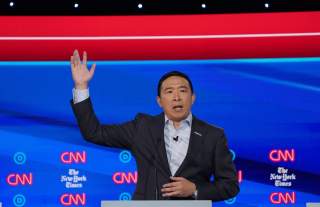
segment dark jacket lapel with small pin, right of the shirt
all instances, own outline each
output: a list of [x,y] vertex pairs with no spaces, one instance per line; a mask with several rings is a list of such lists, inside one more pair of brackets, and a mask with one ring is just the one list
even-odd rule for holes
[[174,176],[181,176],[184,168],[188,166],[188,161],[192,154],[201,151],[204,135],[203,128],[200,126],[199,121],[193,116],[187,154]]

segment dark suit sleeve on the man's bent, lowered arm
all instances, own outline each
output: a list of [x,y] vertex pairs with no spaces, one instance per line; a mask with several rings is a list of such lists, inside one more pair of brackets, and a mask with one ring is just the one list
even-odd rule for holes
[[224,133],[217,140],[213,163],[214,181],[197,185],[197,199],[221,201],[235,197],[240,189]]

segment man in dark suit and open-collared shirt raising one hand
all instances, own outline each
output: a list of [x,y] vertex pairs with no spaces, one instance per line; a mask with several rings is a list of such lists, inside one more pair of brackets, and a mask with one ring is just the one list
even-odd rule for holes
[[[88,91],[95,64],[87,68],[78,51],[71,56],[75,88],[71,102],[84,138],[96,144],[131,150],[138,183],[133,199],[225,200],[239,192],[236,170],[223,129],[191,113],[192,82],[184,73],[165,74],[158,83],[157,102],[163,113],[138,114],[119,125],[99,123]],[[210,181],[211,176],[214,181]]]

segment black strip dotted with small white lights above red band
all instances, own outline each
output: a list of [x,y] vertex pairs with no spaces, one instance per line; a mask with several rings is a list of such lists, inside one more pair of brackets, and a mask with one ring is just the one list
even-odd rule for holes
[[[10,6],[14,2],[14,6]],[[78,8],[74,5],[78,4]],[[138,8],[138,4],[142,8]],[[202,8],[202,4],[206,7]],[[265,4],[269,6],[266,7]],[[2,0],[0,15],[141,15],[317,11],[319,0]]]

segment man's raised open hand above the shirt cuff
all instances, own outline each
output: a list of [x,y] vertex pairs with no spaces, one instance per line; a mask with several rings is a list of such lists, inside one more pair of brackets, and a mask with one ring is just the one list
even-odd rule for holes
[[76,89],[87,89],[89,81],[92,79],[96,64],[93,64],[88,70],[87,67],[87,53],[83,52],[83,60],[81,62],[78,50],[73,52],[70,57],[72,79]]

